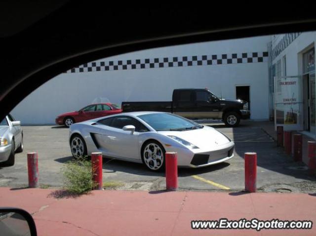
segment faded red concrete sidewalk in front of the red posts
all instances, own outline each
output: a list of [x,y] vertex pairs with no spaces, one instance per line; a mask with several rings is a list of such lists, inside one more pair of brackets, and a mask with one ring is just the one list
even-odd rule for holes
[[192,230],[191,220],[312,220],[316,195],[93,191],[56,198],[53,190],[0,188],[0,206],[33,213],[39,236],[316,235],[312,230]]

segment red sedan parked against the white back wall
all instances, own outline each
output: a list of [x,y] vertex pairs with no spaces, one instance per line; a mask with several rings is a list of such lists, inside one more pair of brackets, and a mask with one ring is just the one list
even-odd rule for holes
[[55,122],[56,124],[66,125],[69,127],[73,123],[110,116],[121,112],[122,110],[118,107],[118,105],[113,103],[91,104],[79,111],[61,114],[56,118]]

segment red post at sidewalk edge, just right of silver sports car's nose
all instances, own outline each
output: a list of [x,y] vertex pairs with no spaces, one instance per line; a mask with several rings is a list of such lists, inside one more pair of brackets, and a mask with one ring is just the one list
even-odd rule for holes
[[257,153],[245,153],[245,191],[257,190]]

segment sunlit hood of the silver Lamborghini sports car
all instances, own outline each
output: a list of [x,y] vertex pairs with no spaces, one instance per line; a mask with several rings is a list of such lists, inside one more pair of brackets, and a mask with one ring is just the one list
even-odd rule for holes
[[163,135],[174,135],[199,148],[206,149],[210,146],[216,147],[230,142],[223,134],[208,126],[187,131],[158,131],[158,133]]

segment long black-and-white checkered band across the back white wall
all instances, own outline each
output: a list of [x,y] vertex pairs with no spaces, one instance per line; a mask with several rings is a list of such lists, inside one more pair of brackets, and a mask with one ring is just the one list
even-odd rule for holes
[[244,52],[218,55],[162,57],[85,63],[66,73],[119,71],[166,67],[213,66],[238,63],[268,62],[268,52]]

